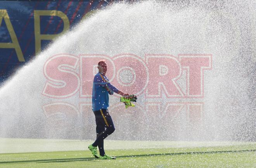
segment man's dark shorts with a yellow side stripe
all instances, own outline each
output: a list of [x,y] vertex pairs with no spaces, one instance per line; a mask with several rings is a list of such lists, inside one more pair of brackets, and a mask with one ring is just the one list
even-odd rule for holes
[[100,134],[100,132],[106,129],[114,129],[114,123],[107,109],[100,109],[98,111],[93,111],[93,113],[95,115],[97,134]]

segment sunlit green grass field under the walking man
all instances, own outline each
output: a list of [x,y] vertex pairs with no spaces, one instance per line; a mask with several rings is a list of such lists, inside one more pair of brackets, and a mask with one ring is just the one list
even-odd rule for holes
[[[116,156],[116,160],[93,158],[87,149],[91,141],[0,139],[0,142],[5,144],[0,147],[0,151],[5,151],[0,154],[1,168],[256,167],[255,142],[106,141],[106,153]],[[48,152],[14,153],[43,150],[36,146],[51,143],[52,149],[50,146],[44,149]],[[66,151],[70,146],[81,150]],[[60,151],[50,152],[57,149],[54,147],[60,147]]]

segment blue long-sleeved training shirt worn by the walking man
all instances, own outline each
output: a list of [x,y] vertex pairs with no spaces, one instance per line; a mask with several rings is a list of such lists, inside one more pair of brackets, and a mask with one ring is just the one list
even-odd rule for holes
[[109,94],[118,93],[118,89],[110,84],[109,79],[101,73],[94,76],[92,86],[92,111],[107,109]]

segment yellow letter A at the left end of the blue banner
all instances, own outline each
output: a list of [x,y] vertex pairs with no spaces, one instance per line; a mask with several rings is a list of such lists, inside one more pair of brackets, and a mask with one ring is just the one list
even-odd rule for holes
[[19,46],[19,42],[18,42],[17,36],[15,34],[15,31],[12,27],[12,23],[10,22],[10,17],[7,14],[7,10],[0,9],[0,27],[1,27],[3,19],[5,21],[7,29],[9,31],[10,38],[12,39],[12,43],[0,43],[0,48],[14,48],[16,51],[17,57],[19,59],[19,62],[24,62],[25,59],[23,57],[21,47]]

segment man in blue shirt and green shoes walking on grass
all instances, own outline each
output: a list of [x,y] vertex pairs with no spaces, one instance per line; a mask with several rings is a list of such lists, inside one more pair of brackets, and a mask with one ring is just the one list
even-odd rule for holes
[[[107,63],[105,60],[100,60],[98,63],[99,73],[93,79],[92,87],[92,111],[96,120],[97,139],[88,146],[95,158],[99,159],[116,159],[108,156],[104,151],[104,139],[112,134],[115,130],[109,111],[109,94],[115,93],[121,96],[129,96],[127,93],[119,91],[116,87],[110,84],[109,79],[105,76],[107,72]],[[100,154],[97,154],[97,146]]]

